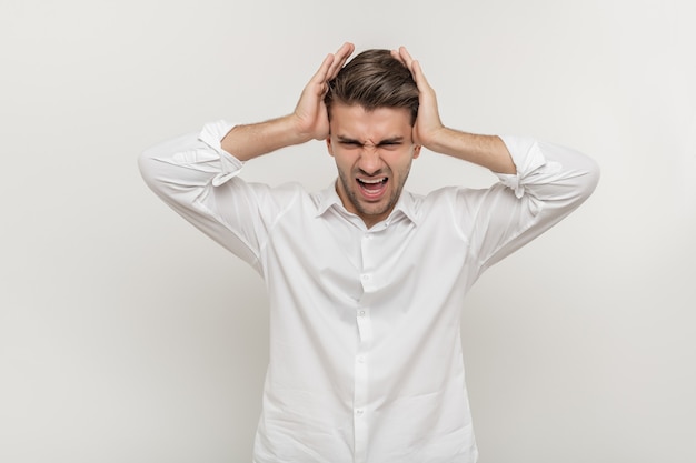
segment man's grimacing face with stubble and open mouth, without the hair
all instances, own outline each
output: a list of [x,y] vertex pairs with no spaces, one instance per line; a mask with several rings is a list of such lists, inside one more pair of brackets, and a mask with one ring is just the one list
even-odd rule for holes
[[336,191],[344,207],[370,228],[385,220],[401,194],[411,161],[420,154],[411,137],[408,109],[335,102],[329,153],[336,160]]

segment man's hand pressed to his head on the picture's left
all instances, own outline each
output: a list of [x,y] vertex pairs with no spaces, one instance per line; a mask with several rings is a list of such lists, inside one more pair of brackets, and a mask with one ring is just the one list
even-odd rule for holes
[[329,53],[302,90],[292,117],[298,133],[305,135],[307,140],[324,140],[329,135],[329,119],[324,97],[329,89],[328,82],[338,74],[354,50],[355,46],[346,42],[335,54]]

